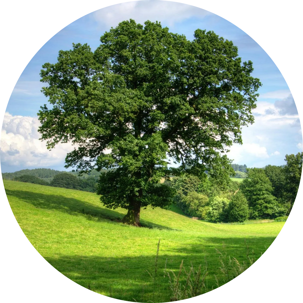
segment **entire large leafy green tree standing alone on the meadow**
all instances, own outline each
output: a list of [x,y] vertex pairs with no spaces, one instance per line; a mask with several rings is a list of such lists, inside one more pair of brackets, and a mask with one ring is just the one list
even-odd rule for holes
[[124,221],[134,225],[141,207],[171,203],[171,188],[159,184],[168,158],[199,177],[206,168],[216,179],[233,173],[222,154],[253,123],[261,85],[252,62],[214,32],[197,29],[189,41],[160,22],[144,24],[123,21],[95,52],[73,44],[45,63],[42,91],[52,108],[38,112],[48,148],[77,145],[65,167],[115,168],[101,174],[98,194],[107,207],[128,209]]

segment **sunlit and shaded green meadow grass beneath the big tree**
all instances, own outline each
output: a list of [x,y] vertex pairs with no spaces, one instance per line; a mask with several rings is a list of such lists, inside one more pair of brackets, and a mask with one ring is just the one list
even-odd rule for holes
[[[120,222],[126,210],[105,208],[94,193],[3,180],[22,231],[54,268],[72,281],[124,301],[170,301],[167,270],[176,274],[207,261],[208,290],[225,277],[218,252],[246,260],[246,240],[257,260],[285,222],[227,225],[192,220],[175,205],[170,210],[142,209],[136,228]],[[155,255],[159,239],[157,273]],[[153,280],[152,277],[155,279]]]

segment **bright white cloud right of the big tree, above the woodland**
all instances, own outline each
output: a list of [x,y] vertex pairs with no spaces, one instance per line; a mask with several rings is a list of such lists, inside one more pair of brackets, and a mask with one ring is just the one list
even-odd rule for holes
[[252,113],[255,122],[242,128],[243,145],[231,146],[228,158],[248,166],[259,159],[262,167],[269,157],[278,165],[283,155],[296,152],[295,146],[302,150],[303,144],[297,144],[302,138],[301,123],[292,95],[276,102],[258,101]]

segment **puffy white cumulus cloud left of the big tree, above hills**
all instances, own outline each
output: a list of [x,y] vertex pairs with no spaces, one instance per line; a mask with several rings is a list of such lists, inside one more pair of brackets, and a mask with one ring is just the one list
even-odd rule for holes
[[62,165],[66,154],[73,150],[71,143],[59,144],[49,151],[39,140],[37,117],[13,116],[5,113],[0,141],[0,160],[3,165],[48,167]]

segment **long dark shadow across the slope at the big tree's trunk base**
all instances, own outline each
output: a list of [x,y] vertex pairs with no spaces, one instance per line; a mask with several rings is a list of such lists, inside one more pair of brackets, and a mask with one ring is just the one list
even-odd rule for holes
[[[5,189],[5,193],[7,196],[13,196],[27,203],[30,203],[36,208],[58,210],[69,215],[84,215],[88,220],[92,220],[94,218],[94,220],[97,219],[98,221],[111,220],[121,222],[122,218],[125,216],[125,214],[118,211],[109,208],[98,207],[88,202],[75,198],[67,198],[62,195],[47,195],[31,191],[10,189]],[[145,220],[142,220],[142,223],[143,227],[172,230],[170,227],[158,225]]]

